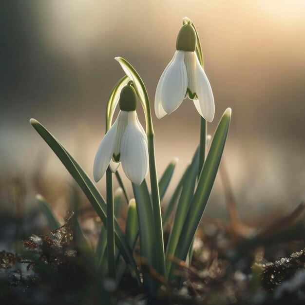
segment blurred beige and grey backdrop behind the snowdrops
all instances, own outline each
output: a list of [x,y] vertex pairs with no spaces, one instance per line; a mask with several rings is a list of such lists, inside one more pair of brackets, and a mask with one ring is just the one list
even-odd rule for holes
[[[29,119],[92,177],[106,101],[123,76],[114,57],[135,67],[153,109],[185,16],[199,32],[214,93],[210,134],[232,108],[223,165],[242,218],[264,220],[304,199],[304,0],[10,0],[0,1],[0,213],[16,210],[12,188],[21,210],[37,209],[39,192],[64,213],[73,181]],[[166,203],[198,145],[199,115],[185,100],[161,120],[152,116],[159,176],[179,158]],[[98,187],[105,194],[104,178]],[[227,214],[217,177],[205,215]]]

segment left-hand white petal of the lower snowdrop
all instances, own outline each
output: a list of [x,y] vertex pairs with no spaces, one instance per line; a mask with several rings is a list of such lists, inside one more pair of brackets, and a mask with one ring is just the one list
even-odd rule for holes
[[114,153],[117,120],[118,119],[115,120],[114,125],[111,126],[103,137],[95,154],[93,164],[93,177],[95,182],[98,182],[106,172]]

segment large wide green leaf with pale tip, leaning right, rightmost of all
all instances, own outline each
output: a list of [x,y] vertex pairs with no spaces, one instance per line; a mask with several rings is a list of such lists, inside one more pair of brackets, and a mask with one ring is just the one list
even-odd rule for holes
[[[185,261],[192,240],[206,208],[212,186],[218,171],[221,156],[226,144],[231,119],[231,109],[228,108],[221,117],[216,132],[212,138],[207,159],[199,176],[198,184],[191,201],[191,207],[184,222],[174,257]],[[176,266],[172,264],[169,278],[173,279]]]

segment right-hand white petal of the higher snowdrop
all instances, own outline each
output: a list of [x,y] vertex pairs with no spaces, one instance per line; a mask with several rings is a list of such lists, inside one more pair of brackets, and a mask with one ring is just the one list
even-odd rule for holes
[[202,116],[211,122],[215,114],[214,97],[208,77],[196,57],[196,93]]

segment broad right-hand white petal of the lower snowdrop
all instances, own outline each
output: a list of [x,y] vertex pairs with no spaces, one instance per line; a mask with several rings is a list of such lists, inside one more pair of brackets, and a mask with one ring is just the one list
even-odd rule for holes
[[142,133],[135,111],[128,113],[128,124],[121,146],[121,163],[125,175],[140,185],[148,172],[148,148],[146,134]]

